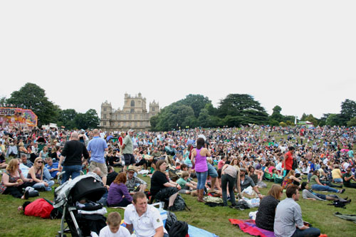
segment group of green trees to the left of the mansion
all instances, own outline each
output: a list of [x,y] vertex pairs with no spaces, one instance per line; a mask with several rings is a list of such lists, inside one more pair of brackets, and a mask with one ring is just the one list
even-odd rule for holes
[[90,109],[85,113],[74,109],[61,110],[46,97],[46,92],[34,83],[26,83],[20,90],[11,93],[10,98],[1,98],[3,107],[21,107],[32,110],[38,118],[38,127],[56,123],[58,127],[68,130],[95,128],[100,125],[96,110]]

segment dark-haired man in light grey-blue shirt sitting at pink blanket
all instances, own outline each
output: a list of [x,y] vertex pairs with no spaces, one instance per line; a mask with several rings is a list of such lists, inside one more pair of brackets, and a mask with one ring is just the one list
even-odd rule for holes
[[276,208],[276,216],[274,218],[275,236],[320,236],[318,228],[305,226],[302,219],[302,210],[297,204],[299,200],[298,186],[288,186],[286,195],[287,198],[281,201]]

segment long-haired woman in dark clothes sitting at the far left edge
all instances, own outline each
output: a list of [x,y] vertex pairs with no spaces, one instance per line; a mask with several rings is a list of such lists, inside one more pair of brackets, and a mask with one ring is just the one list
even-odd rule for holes
[[17,199],[28,199],[28,191],[23,194],[22,189],[31,186],[32,179],[26,179],[19,169],[19,160],[11,159],[2,174],[0,194],[11,194]]

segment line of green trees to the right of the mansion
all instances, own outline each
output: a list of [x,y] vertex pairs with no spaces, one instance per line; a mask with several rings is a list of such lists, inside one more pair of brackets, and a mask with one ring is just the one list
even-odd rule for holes
[[[152,117],[153,131],[177,130],[186,127],[239,127],[240,125],[294,125],[294,115],[282,115],[279,105],[268,115],[252,95],[229,94],[215,108],[204,95],[187,95],[186,98],[164,107]],[[313,122],[316,126],[356,126],[356,102],[346,99],[341,103],[340,114],[326,113],[320,119],[305,113],[300,121]]]

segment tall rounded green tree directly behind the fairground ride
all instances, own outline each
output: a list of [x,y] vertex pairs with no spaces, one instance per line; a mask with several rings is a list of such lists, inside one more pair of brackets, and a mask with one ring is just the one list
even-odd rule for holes
[[11,93],[7,103],[31,109],[38,117],[38,125],[57,122],[58,106],[49,101],[45,90],[33,83],[26,83],[20,90]]

